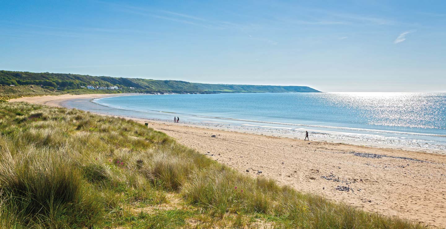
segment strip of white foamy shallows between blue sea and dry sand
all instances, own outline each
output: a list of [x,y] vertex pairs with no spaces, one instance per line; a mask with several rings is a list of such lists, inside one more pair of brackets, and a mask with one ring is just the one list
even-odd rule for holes
[[[88,102],[87,102],[88,101]],[[105,102],[104,102],[105,103]],[[81,110],[90,110],[93,112],[99,112],[103,114],[109,115],[121,115],[129,118],[136,119],[153,119],[163,122],[169,122],[170,116],[173,116],[177,113],[167,113],[160,111],[148,111],[141,110],[136,111],[135,108],[128,108],[127,106],[103,106],[102,102],[98,103],[97,100],[92,102],[89,100],[83,101],[73,101],[71,100],[68,103],[70,108],[78,108]],[[66,105],[68,105],[66,104]],[[89,105],[91,104],[91,105]],[[103,107],[103,108],[100,108]],[[119,107],[119,108],[118,108]],[[127,107],[127,108],[126,108]],[[404,148],[404,149],[412,149],[412,150],[421,150],[421,151],[430,151],[437,153],[446,152],[446,141],[444,137],[440,135],[431,135],[431,136],[419,136],[416,135],[407,135],[407,134],[399,134],[399,133],[391,133],[391,134],[380,134],[373,132],[358,132],[358,131],[335,131],[335,129],[322,129],[318,130],[318,128],[307,128],[307,127],[297,127],[293,126],[289,128],[287,126],[286,129],[283,128],[274,128],[280,127],[281,124],[277,125],[262,125],[262,122],[243,122],[243,121],[234,121],[234,122],[221,122],[219,120],[225,119],[217,119],[215,118],[206,118],[209,116],[203,115],[194,115],[188,116],[185,114],[180,114],[179,116],[185,116],[182,119],[182,123],[192,124],[207,128],[218,128],[218,129],[227,129],[227,130],[235,130],[242,132],[256,132],[259,134],[267,134],[267,135],[279,135],[286,136],[291,138],[302,138],[304,136],[305,131],[310,132],[310,138],[312,140],[322,140],[329,141],[335,143],[349,143],[349,144],[357,144],[357,145],[368,145],[368,146],[376,146],[376,147],[392,147],[392,148]],[[178,115],[175,115],[178,116]],[[195,117],[195,118],[194,118]],[[199,117],[199,118],[197,118]],[[214,119],[214,120],[213,120]],[[226,119],[226,120],[236,120],[236,119]],[[263,126],[263,127],[262,127]],[[306,125],[306,126],[316,126],[316,125]],[[346,128],[348,129],[348,128]],[[398,132],[398,131],[393,131]],[[412,136],[412,137],[411,137]]]

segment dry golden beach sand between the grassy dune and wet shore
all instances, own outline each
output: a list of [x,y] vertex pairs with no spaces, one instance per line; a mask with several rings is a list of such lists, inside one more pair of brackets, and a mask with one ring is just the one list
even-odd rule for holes
[[[61,106],[67,99],[105,96],[110,95],[41,96],[10,101]],[[367,211],[446,228],[444,154],[133,120],[149,123],[149,127],[250,176],[266,176],[302,192],[320,194]]]

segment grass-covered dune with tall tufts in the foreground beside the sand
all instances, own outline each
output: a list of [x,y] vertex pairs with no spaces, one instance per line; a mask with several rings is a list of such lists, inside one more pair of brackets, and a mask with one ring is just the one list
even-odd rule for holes
[[253,179],[131,120],[0,103],[0,228],[421,229]]

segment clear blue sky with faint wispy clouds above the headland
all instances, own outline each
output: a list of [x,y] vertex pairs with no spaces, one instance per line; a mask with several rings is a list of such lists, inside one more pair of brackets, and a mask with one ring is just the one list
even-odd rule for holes
[[446,1],[0,0],[0,70],[446,92]]

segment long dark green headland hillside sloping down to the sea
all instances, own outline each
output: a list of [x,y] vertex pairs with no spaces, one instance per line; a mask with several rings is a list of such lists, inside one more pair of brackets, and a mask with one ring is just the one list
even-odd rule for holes
[[0,85],[39,85],[49,90],[62,90],[69,93],[95,91],[85,86],[118,86],[122,92],[137,93],[234,93],[234,92],[318,92],[301,86],[256,86],[201,84],[178,80],[152,80],[140,78],[114,78],[79,74],[32,73],[0,71]]

